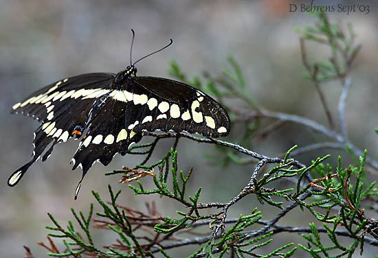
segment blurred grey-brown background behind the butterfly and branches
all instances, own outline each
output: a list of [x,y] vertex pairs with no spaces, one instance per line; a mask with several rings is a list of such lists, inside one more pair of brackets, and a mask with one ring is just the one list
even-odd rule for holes
[[[349,3],[353,3],[350,1]],[[370,14],[334,12],[333,21],[351,22],[362,49],[351,73],[353,84],[348,96],[346,121],[351,140],[359,148],[367,148],[378,159],[378,5],[370,5]],[[42,86],[80,73],[117,73],[129,64],[131,32],[136,32],[133,59],[158,49],[173,38],[174,45],[138,64],[139,75],[168,76],[168,61],[176,60],[188,75],[208,71],[214,75],[227,67],[229,55],[243,67],[254,99],[270,110],[303,115],[326,124],[324,110],[315,87],[303,78],[298,34],[293,25],[313,24],[304,12],[288,12],[290,1],[0,1],[0,257],[23,257],[23,245],[32,248],[36,257],[45,257],[45,250],[36,242],[45,241],[49,225],[47,212],[61,222],[71,219],[70,207],[87,211],[95,202],[91,190],[107,199],[107,185],[123,189],[121,202],[144,210],[144,202],[155,200],[164,215],[174,215],[180,205],[160,198],[134,198],[126,185],[118,183],[119,176],[104,176],[105,172],[132,167],[135,156],[115,156],[103,167],[96,163],[87,174],[78,200],[74,189],[81,171],[71,171],[69,161],[78,142],[58,145],[45,163],[36,162],[17,187],[6,185],[8,176],[29,161],[32,154],[33,132],[37,121],[22,115],[10,115],[13,104]],[[338,1],[316,1],[316,4],[337,4]],[[346,3],[346,1],[344,1]],[[308,47],[309,54],[315,51]],[[316,58],[316,56],[311,56]],[[326,84],[324,92],[335,111],[340,95],[338,82]],[[335,114],[335,113],[334,113]],[[261,154],[285,152],[294,143],[315,143],[319,136],[298,126],[284,126],[270,134],[265,141],[254,144]],[[164,141],[155,152],[156,158],[166,153],[170,141]],[[307,162],[318,152],[298,156]],[[221,169],[212,165],[203,154],[215,154],[210,145],[188,140],[179,143],[179,166],[188,171],[194,166],[190,193],[203,187],[202,202],[225,202],[249,180],[253,168],[232,165]],[[333,158],[336,158],[334,153]],[[346,161],[347,162],[347,161]],[[146,185],[150,178],[144,178]],[[230,183],[231,182],[231,183]],[[256,199],[241,202],[229,217],[247,213],[256,207]],[[273,208],[263,211],[266,219],[277,213]],[[99,210],[96,206],[97,211]],[[271,210],[270,210],[271,209]],[[307,213],[299,210],[282,221],[308,224]],[[307,216],[309,218],[310,216]],[[109,244],[109,235],[93,231],[96,242]],[[290,241],[294,241],[291,235]],[[303,242],[298,235],[297,242]],[[287,242],[277,235],[276,242]],[[182,252],[193,247],[181,249]],[[197,246],[194,246],[197,248]],[[365,257],[373,250],[366,245]],[[181,252],[180,251],[180,252]],[[304,255],[298,250],[297,255]],[[174,257],[184,253],[170,251]],[[300,256],[298,256],[300,257]]]

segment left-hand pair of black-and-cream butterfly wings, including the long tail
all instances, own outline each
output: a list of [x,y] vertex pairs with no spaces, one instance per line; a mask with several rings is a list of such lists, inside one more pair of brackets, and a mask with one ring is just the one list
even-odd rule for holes
[[77,132],[85,130],[87,116],[93,109],[94,102],[111,91],[113,77],[110,73],[78,75],[62,80],[60,84],[46,86],[13,106],[15,113],[34,116],[43,123],[34,133],[32,160],[10,176],[9,186],[19,183],[30,165],[42,156],[48,146],[43,161],[51,154],[56,143],[67,141],[76,135],[73,134],[76,129]]

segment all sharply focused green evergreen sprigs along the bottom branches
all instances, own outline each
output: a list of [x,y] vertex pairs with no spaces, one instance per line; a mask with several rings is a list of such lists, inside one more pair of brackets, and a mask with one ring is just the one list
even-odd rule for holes
[[[362,201],[364,198],[378,195],[378,190],[374,188],[375,183],[364,187],[364,183],[361,180],[364,175],[366,152],[364,156],[360,157],[360,163],[357,167],[350,165],[342,168],[339,157],[339,165],[333,169],[331,165],[324,163],[324,160],[329,156],[324,156],[313,161],[308,167],[295,169],[292,166],[293,159],[289,158],[289,154],[294,149],[292,148],[287,152],[282,163],[274,166],[256,181],[254,189],[256,198],[280,209],[283,209],[282,202],[272,200],[273,196],[286,200],[296,200],[301,207],[308,209],[316,220],[324,222],[323,228],[317,228],[314,223],[311,223],[309,225],[310,233],[302,235],[308,242],[307,246],[298,244],[300,248],[309,252],[311,256],[322,257],[324,255],[324,257],[331,257],[332,255],[329,252],[339,250],[340,253],[336,257],[342,257],[342,255],[352,255],[358,247],[362,251],[364,244],[362,236],[366,234],[365,231],[368,231],[366,227],[368,221],[364,217],[363,208],[361,207]],[[211,230],[213,228],[211,225],[216,224],[219,219],[214,215],[201,214],[203,209],[203,204],[199,203],[201,188],[197,189],[193,196],[187,196],[185,191],[192,171],[185,174],[178,169],[177,150],[173,148],[164,156],[163,160],[158,165],[159,174],[153,178],[154,189],[144,189],[140,181],[137,181],[137,187],[129,185],[135,195],[157,194],[163,198],[175,200],[186,207],[187,211],[177,211],[177,218],[163,216],[159,218],[159,221],[154,220],[154,224],[149,224],[157,233],[156,235],[162,235],[162,237],[155,238],[156,242],[149,242],[152,241],[150,239],[147,244],[142,244],[140,237],[138,237],[140,233],[133,228],[132,224],[134,222],[126,214],[127,209],[117,204],[117,198],[121,192],[113,193],[109,186],[111,198],[109,204],[102,200],[96,191],[92,193],[103,210],[102,213],[96,213],[96,215],[98,218],[106,219],[104,224],[106,228],[118,235],[118,245],[113,244],[107,248],[108,250],[104,250],[104,248],[98,248],[93,244],[89,231],[93,214],[93,204],[91,204],[87,217],[82,212],[77,213],[74,209],[71,210],[80,230],[85,233],[86,239],[76,231],[73,222],[70,221],[67,229],[65,229],[52,215],[49,215],[54,226],[48,226],[47,228],[59,232],[59,234],[49,234],[49,237],[63,238],[63,244],[67,248],[64,253],[49,253],[49,255],[69,257],[69,255],[77,256],[86,253],[97,255],[98,257],[147,257],[159,252],[164,257],[170,257],[164,250],[164,245],[157,248],[154,244],[159,243],[160,239],[166,239],[166,237],[169,239],[169,236],[173,235],[173,233],[177,234],[188,230],[188,228],[196,228],[197,224],[202,221],[209,221],[209,229]],[[318,174],[320,176],[318,181],[313,181],[316,181],[316,185],[311,185],[311,183],[308,185],[298,184],[297,191],[294,191],[293,188],[271,189],[266,187],[275,180],[300,176],[304,173]],[[350,183],[352,180],[354,184]],[[311,193],[313,197],[308,198],[309,202],[304,202],[298,198],[303,193]],[[337,213],[335,212],[335,207],[340,207]],[[261,211],[255,208],[250,214],[241,215],[237,220],[227,223],[228,228],[225,233],[216,238],[208,237],[203,239],[201,247],[192,253],[190,257],[197,257],[198,255],[203,257],[224,257],[230,253],[230,250],[235,253],[236,257],[256,256],[256,250],[268,246],[274,241],[271,238],[274,235],[274,230],[260,231],[260,233],[249,230],[249,228],[258,225],[262,220],[261,214]],[[139,224],[144,225],[143,221]],[[353,242],[349,246],[340,244],[340,230],[337,231],[337,228],[340,227],[345,228],[346,233],[353,238]],[[321,233],[326,233],[326,235],[321,235],[320,231]],[[332,243],[330,246],[324,246],[322,243],[327,238]],[[293,243],[285,244],[276,250],[272,250],[267,255],[259,255],[258,257],[291,257],[296,250],[293,245]],[[120,246],[122,246],[121,250],[118,249]],[[146,246],[150,246],[150,248],[146,248]],[[286,252],[282,253],[284,250]]]

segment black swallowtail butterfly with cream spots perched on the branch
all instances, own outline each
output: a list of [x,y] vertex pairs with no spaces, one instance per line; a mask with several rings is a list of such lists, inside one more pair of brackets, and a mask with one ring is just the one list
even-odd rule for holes
[[143,132],[189,132],[222,137],[230,132],[230,117],[212,97],[198,89],[165,78],[137,76],[135,64],[162,51],[170,43],[119,73],[87,73],[65,78],[36,91],[12,106],[12,113],[34,117],[41,125],[34,132],[32,159],[8,179],[13,187],[38,159],[45,161],[54,146],[80,139],[71,163],[82,168],[75,191],[95,161],[109,165],[113,156],[124,156]]

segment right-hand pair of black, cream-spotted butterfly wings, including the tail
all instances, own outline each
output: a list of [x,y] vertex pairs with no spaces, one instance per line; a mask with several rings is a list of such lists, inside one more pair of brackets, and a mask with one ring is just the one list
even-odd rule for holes
[[[230,130],[227,113],[214,99],[173,80],[129,78],[102,102],[72,159],[73,169],[82,167],[82,177],[95,161],[108,165],[115,154],[126,154],[129,145],[142,139],[144,130],[185,130],[211,137]],[[81,180],[75,196],[80,185]]]

